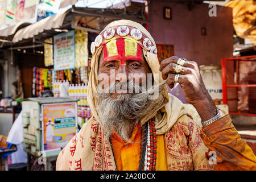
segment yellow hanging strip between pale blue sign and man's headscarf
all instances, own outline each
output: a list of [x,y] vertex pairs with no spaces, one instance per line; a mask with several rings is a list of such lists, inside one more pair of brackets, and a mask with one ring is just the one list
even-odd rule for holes
[[75,30],[76,68],[88,67],[88,32]]

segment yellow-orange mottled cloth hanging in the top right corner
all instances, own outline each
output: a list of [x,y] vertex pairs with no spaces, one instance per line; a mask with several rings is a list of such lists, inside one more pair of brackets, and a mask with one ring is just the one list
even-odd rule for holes
[[225,6],[233,8],[233,26],[237,36],[256,44],[256,3],[253,0],[234,0]]

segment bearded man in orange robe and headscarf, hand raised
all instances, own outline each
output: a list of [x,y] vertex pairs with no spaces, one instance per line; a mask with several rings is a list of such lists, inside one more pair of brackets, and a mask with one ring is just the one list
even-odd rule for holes
[[[159,64],[154,39],[130,20],[106,26],[91,51],[93,117],[60,152],[57,170],[256,169],[253,151],[217,110],[195,62],[174,56]],[[166,83],[174,82],[203,129],[168,94]]]

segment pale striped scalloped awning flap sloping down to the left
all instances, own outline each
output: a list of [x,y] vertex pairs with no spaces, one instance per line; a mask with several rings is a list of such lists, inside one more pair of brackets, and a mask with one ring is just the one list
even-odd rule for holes
[[49,16],[40,20],[39,22],[33,23],[30,26],[20,29],[14,35],[13,42],[17,43],[23,39],[33,38],[44,31],[60,28],[63,24],[65,16],[71,10],[63,11],[61,13]]

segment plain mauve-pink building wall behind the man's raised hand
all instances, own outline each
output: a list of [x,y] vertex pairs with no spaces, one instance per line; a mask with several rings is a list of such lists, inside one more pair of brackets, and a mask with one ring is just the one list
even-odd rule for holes
[[[163,18],[163,7],[172,8],[172,19]],[[173,44],[176,56],[197,64],[221,64],[221,58],[233,55],[232,9],[217,6],[217,16],[210,17],[208,4],[151,1],[148,30],[156,44]],[[201,27],[207,35],[201,35]]]

